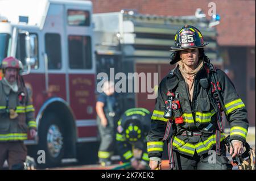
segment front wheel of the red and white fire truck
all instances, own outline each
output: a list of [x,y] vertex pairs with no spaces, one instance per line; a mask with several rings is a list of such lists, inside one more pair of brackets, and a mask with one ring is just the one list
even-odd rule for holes
[[64,155],[64,132],[59,117],[48,113],[40,123],[39,145],[46,151],[43,167],[58,166]]

